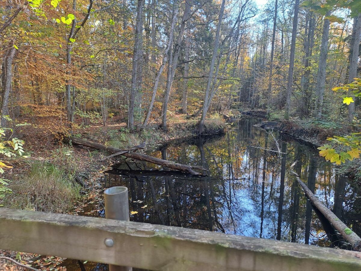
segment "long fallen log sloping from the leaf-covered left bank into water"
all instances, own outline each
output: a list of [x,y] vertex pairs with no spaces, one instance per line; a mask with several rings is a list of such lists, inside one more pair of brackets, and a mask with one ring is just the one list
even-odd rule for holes
[[[85,147],[90,147],[93,149],[97,149],[97,150],[104,150],[110,153],[117,153],[117,152],[123,152],[124,150],[121,149],[117,149],[114,147],[107,147],[104,145],[101,145],[99,143],[95,143],[95,142],[91,142],[85,139],[81,139],[81,138],[77,138],[77,137],[69,137],[69,139],[71,140],[72,144],[75,145],[82,145]],[[182,171],[182,172],[187,172],[187,173],[191,173],[194,175],[203,175],[203,173],[199,173],[196,172],[194,170],[200,170],[200,171],[206,171],[206,169],[204,169],[203,167],[198,167],[198,166],[194,166],[194,165],[183,165],[183,164],[178,164],[178,163],[174,163],[171,161],[167,161],[167,160],[163,160],[163,159],[159,159],[159,158],[155,158],[146,154],[141,154],[141,153],[137,153],[137,152],[125,152],[122,153],[121,155],[128,157],[128,158],[133,158],[133,159],[137,159],[137,160],[141,160],[141,161],[145,161],[145,162],[150,162],[153,164],[157,164],[157,165],[162,165],[164,167],[167,168],[171,168],[171,169],[175,169],[178,171]]]

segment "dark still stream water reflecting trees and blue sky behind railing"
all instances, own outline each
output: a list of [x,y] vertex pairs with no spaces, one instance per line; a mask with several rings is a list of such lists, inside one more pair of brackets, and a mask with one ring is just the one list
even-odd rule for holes
[[[127,186],[131,220],[204,229],[317,246],[342,246],[317,214],[291,169],[358,235],[360,191],[317,150],[278,133],[236,121],[220,137],[195,138],[152,156],[199,165],[209,177],[166,172],[145,162],[127,162],[104,175],[104,188]],[[104,216],[97,211],[93,216]]]

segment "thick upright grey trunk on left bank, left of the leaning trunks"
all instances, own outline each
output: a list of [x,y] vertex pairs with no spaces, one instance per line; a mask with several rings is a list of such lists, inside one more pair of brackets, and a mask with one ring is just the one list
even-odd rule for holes
[[135,26],[135,40],[134,40],[134,51],[133,51],[133,68],[132,68],[132,84],[130,90],[130,101],[129,101],[129,110],[128,110],[128,128],[134,130],[134,109],[137,106],[136,101],[138,100],[138,89],[137,81],[138,78],[138,65],[141,57],[141,43],[143,37],[143,5],[144,0],[138,0],[137,5],[137,16],[136,16],[136,26]]

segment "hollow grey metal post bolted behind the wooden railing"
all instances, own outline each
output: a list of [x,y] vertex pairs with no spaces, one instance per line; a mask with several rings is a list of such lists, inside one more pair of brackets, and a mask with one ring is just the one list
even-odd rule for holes
[[[105,218],[129,221],[128,188],[114,186],[104,191]],[[113,246],[113,240],[104,240],[106,246]],[[121,255],[120,255],[121,256]],[[109,271],[132,271],[132,267],[109,264]]]

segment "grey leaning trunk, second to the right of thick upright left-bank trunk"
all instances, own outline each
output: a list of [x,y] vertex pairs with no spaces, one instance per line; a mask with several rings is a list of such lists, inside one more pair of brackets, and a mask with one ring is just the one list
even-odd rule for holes
[[[163,129],[167,128],[167,109],[168,109],[169,94],[170,94],[170,90],[171,90],[172,84],[173,84],[175,69],[177,68],[177,64],[178,64],[178,57],[179,57],[179,52],[181,50],[181,43],[182,43],[182,39],[183,39],[184,29],[186,28],[186,22],[189,19],[190,12],[191,12],[191,5],[192,5],[191,0],[185,1],[185,5],[186,6],[184,8],[182,23],[181,23],[181,27],[179,29],[177,43],[175,44],[175,48],[174,48],[174,55],[173,55],[173,59],[171,61],[171,65],[170,65],[171,68],[170,68],[170,74],[168,77],[169,81],[167,82],[167,88],[164,93],[163,112],[162,112],[162,128]],[[177,7],[177,11],[175,12],[175,17],[177,17],[177,16],[178,16],[178,7]]]

